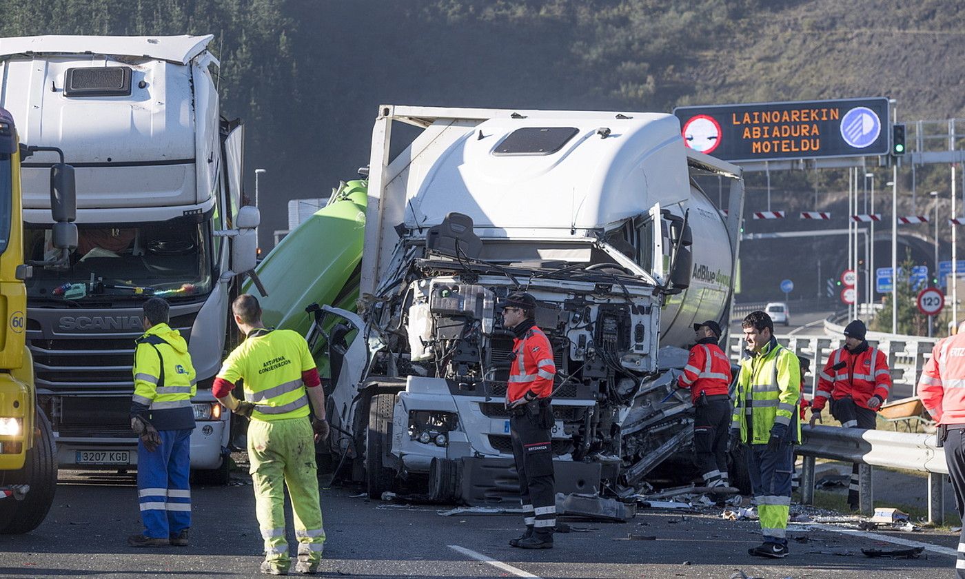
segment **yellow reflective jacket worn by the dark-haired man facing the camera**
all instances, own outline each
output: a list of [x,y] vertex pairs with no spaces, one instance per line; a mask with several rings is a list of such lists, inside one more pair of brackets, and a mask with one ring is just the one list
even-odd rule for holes
[[771,428],[784,424],[788,426],[788,440],[800,442],[800,400],[801,367],[797,356],[771,339],[758,354],[740,361],[731,428],[740,428],[741,442],[767,444]]

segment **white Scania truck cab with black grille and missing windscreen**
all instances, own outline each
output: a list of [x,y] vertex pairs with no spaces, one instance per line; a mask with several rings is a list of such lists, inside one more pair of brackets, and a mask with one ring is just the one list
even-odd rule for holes
[[[259,218],[239,207],[243,126],[221,117],[212,38],[0,39],[0,106],[25,144],[60,148],[76,171],[77,248],[26,282],[27,344],[62,467],[137,464],[130,369],[141,306],[159,296],[197,371],[191,466],[227,482],[230,413],[210,385]],[[57,160],[23,163],[28,263],[53,250]]]

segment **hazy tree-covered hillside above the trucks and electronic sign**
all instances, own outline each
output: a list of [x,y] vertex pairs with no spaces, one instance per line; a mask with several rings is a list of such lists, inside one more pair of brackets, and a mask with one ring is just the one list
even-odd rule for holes
[[[213,34],[262,244],[367,164],[379,103],[670,111],[893,96],[961,116],[963,5],[856,0],[0,0],[0,35]],[[270,200],[271,203],[266,203]]]

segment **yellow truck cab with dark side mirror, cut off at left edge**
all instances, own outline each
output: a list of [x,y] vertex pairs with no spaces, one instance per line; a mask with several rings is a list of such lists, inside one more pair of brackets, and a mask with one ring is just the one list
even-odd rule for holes
[[[41,524],[57,485],[57,452],[50,421],[37,407],[30,351],[24,344],[27,295],[23,280],[21,152],[47,150],[21,146],[14,119],[0,108],[0,533],[27,533]],[[52,212],[58,221],[51,246],[66,257],[77,243],[73,168],[51,169]],[[56,267],[60,259],[38,262]]]

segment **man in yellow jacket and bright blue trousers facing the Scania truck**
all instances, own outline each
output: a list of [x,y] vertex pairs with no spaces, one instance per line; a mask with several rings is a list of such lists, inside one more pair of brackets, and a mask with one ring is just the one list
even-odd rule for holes
[[135,547],[185,547],[191,526],[191,430],[197,392],[187,343],[168,325],[168,302],[144,302],[144,335],[134,348],[131,428],[138,435],[137,494],[145,531]]

